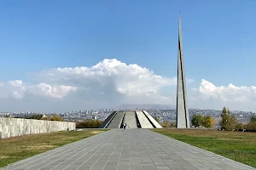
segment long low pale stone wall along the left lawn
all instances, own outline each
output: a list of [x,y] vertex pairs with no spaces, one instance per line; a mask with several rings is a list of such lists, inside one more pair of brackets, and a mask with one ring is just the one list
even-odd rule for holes
[[75,122],[41,121],[0,117],[0,139],[35,133],[74,130]]

